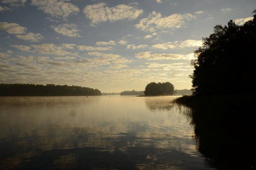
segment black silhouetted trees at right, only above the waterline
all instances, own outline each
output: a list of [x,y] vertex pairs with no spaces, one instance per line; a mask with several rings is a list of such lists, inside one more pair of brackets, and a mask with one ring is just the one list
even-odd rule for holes
[[256,15],[243,26],[232,20],[228,26],[217,25],[203,40],[195,51],[197,59],[191,62],[193,95],[255,94]]

